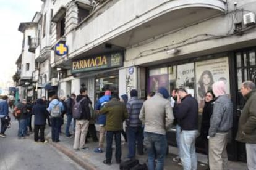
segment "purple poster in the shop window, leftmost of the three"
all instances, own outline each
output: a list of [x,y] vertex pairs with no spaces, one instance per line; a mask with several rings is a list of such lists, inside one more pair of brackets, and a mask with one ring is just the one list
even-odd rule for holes
[[166,89],[168,89],[167,68],[150,70],[150,76],[148,78],[148,92],[156,92],[159,87],[166,87]]

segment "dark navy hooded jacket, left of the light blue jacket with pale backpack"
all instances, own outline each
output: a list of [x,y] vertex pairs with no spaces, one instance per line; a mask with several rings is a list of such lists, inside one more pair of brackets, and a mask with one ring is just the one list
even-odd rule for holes
[[45,103],[43,103],[43,99],[37,99],[36,105],[32,108],[32,114],[35,115],[35,125],[45,125],[46,118],[49,115],[49,112],[46,110]]

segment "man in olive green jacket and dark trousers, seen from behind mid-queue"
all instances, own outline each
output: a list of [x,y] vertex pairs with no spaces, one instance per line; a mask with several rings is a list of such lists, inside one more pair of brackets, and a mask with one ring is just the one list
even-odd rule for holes
[[103,163],[111,165],[113,136],[116,143],[116,163],[121,162],[121,131],[122,123],[128,118],[124,103],[119,101],[117,94],[111,96],[111,100],[101,108],[100,114],[106,114],[106,160]]

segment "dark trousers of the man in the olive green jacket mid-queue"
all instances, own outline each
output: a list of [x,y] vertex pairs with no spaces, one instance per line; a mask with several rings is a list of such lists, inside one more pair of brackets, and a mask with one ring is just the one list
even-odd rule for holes
[[112,142],[113,142],[113,136],[114,141],[116,143],[116,161],[121,160],[122,155],[122,148],[121,148],[121,131],[107,131],[106,132],[106,161],[108,163],[112,160]]

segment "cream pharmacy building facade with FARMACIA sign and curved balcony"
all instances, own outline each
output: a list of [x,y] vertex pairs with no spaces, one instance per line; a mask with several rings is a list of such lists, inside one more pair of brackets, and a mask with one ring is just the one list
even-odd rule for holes
[[[201,118],[203,95],[222,79],[234,103],[229,159],[245,160],[244,145],[235,136],[244,103],[239,86],[256,81],[255,0],[43,3],[49,7],[41,15],[51,19],[42,28],[48,25],[51,33],[49,44],[40,46],[48,47],[51,67],[45,73],[56,69],[56,75],[46,82],[56,80],[58,95],[87,87],[95,102],[106,89],[120,95],[138,89],[144,98],[160,86],[185,87],[198,100]],[[176,145],[174,129],[168,136]],[[199,140],[197,151],[203,152]]]

